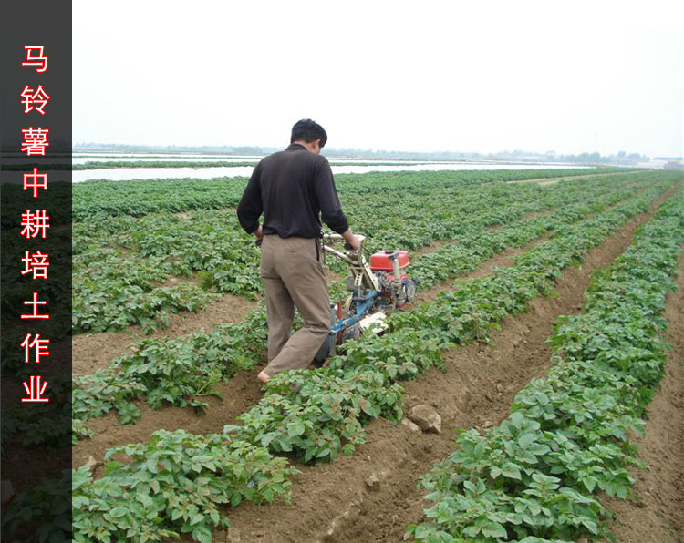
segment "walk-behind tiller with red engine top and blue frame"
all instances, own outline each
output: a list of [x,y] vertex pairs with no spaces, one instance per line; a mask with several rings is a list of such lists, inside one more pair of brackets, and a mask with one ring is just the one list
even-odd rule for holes
[[361,333],[381,333],[388,328],[385,322],[389,312],[397,310],[416,297],[416,282],[409,279],[409,253],[407,251],[379,251],[366,260],[365,236],[357,236],[358,251],[337,251],[331,244],[343,241],[339,234],[324,234],[323,250],[347,262],[346,302],[330,304],[331,331],[318,353],[316,362],[323,362],[336,352],[337,345],[349,339],[357,339]]

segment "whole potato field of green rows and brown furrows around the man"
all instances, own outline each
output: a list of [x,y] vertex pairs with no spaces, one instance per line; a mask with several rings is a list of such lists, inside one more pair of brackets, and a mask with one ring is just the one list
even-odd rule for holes
[[[73,540],[679,540],[682,173],[336,176],[418,299],[263,388],[245,182],[74,186],[72,433],[36,438],[72,445]],[[51,499],[16,497],[4,533]]]

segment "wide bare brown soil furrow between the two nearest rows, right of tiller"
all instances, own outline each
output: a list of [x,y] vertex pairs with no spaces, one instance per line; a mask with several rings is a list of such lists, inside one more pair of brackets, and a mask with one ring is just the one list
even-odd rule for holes
[[[557,297],[534,300],[530,312],[505,319],[489,344],[447,353],[445,372],[433,368],[404,384],[406,412],[413,405],[431,405],[442,418],[440,434],[414,433],[406,425],[376,420],[368,425],[367,443],[354,456],[300,467],[291,506],[237,507],[230,511],[232,528],[216,532],[214,540],[400,541],[404,528],[420,521],[427,505],[416,489],[417,477],[449,455],[455,430],[499,424],[508,415],[513,395],[545,374],[550,365],[546,339],[554,321],[561,314],[582,311],[591,272],[625,251],[637,226],[656,207],[628,220],[590,251],[580,268],[566,270],[557,282]],[[378,483],[368,485],[370,476]]]

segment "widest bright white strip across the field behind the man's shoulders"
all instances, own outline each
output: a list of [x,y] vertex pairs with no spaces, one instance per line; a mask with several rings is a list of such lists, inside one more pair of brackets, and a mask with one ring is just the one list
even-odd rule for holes
[[[175,160],[175,159],[174,159]],[[368,162],[368,160],[366,160]],[[575,169],[585,166],[567,166],[565,164],[492,164],[475,162],[447,162],[421,164],[378,164],[378,166],[333,165],[333,174],[368,173],[370,171],[444,171],[468,169]],[[108,179],[122,181],[128,179],[213,179],[223,177],[249,177],[252,166],[219,166],[215,168],[109,168],[84,169],[72,172],[72,181],[78,183],[88,179]]]

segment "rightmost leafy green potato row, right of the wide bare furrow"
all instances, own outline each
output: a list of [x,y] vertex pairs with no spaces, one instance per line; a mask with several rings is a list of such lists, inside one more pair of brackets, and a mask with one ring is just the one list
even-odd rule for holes
[[560,317],[553,369],[517,394],[496,428],[462,433],[420,483],[433,505],[422,541],[576,541],[609,537],[596,494],[625,498],[638,465],[631,432],[664,374],[665,294],[684,242],[684,190],[595,271],[584,312]]

